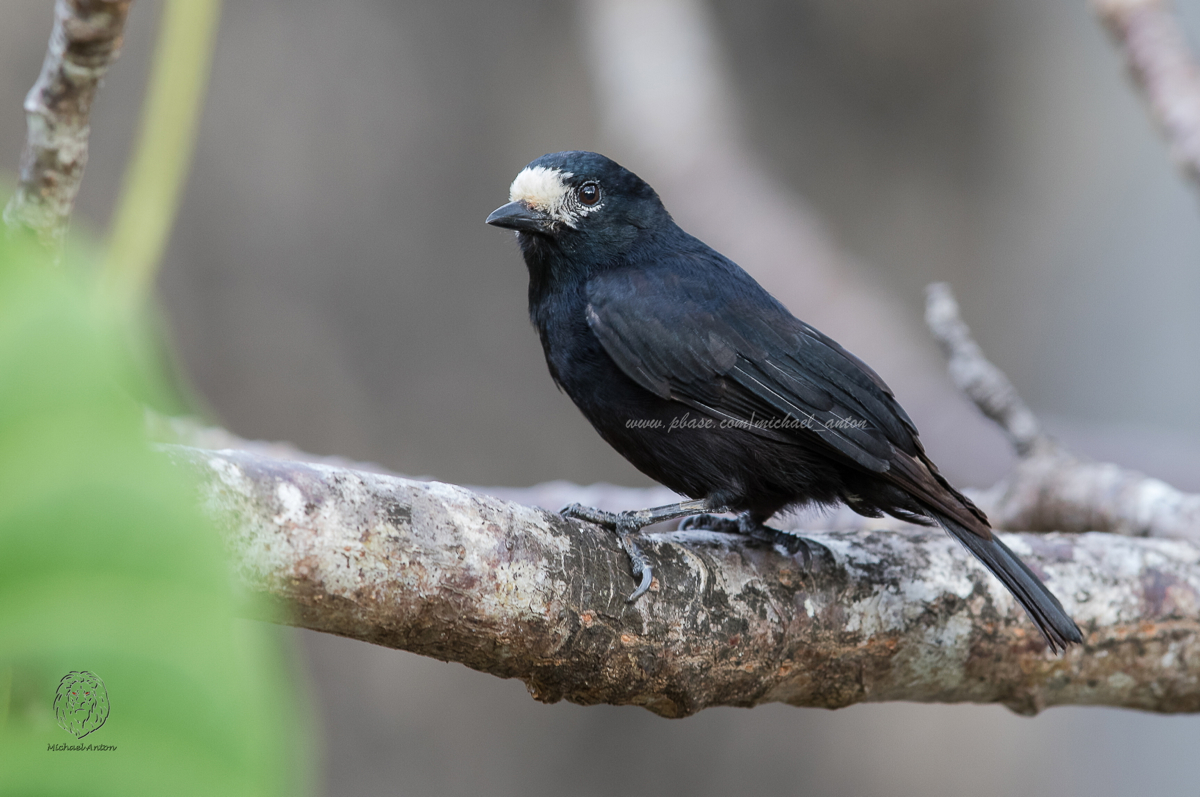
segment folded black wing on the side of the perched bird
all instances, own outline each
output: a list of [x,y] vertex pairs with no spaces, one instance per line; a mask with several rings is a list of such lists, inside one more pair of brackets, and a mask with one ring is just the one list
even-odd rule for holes
[[876,473],[896,450],[919,456],[912,421],[878,374],[732,263],[676,256],[600,274],[587,295],[605,350],[664,398],[775,439],[820,439]]

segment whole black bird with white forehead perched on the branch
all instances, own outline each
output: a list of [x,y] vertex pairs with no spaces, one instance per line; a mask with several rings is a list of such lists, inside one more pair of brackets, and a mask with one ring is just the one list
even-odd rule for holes
[[637,175],[595,152],[556,152],[527,166],[509,198],[487,223],[517,230],[554,383],[635,467],[694,499],[563,510],[619,534],[641,577],[630,600],[650,585],[634,540],[649,523],[738,513],[685,522],[791,541],[794,552],[803,540],[766,521],[840,501],[868,517],[941,523],[1052,651],[1081,641],[1062,604],[938,473],[883,379],[680,229]]

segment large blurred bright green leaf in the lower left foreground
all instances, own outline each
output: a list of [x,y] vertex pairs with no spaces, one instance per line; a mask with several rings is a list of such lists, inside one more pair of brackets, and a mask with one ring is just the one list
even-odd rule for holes
[[[236,619],[220,535],[145,439],[136,396],[169,390],[137,348],[68,269],[0,240],[0,795],[306,791],[283,631]],[[55,717],[72,671],[108,697],[83,738]]]

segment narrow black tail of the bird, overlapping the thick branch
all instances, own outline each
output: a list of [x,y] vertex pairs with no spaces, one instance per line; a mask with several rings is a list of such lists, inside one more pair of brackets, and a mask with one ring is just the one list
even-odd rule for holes
[[995,534],[986,540],[968,531],[958,521],[936,513],[937,522],[971,551],[984,567],[1000,579],[1013,597],[1020,601],[1025,611],[1046,637],[1046,643],[1055,653],[1064,649],[1072,642],[1082,642],[1079,625],[1063,610],[1058,599],[1046,588],[1042,580],[1013,553]]

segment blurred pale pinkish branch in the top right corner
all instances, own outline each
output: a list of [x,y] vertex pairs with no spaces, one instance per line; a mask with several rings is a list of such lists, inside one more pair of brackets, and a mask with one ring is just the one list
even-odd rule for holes
[[1200,182],[1200,67],[1168,0],[1092,0],[1176,162]]

